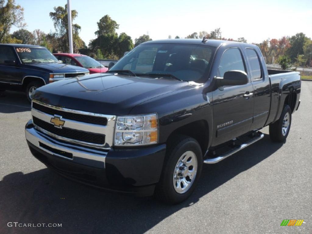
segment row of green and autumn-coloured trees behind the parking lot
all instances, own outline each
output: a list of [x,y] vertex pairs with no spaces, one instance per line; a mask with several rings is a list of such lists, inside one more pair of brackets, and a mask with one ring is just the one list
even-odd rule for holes
[[[0,43],[17,43],[17,44],[33,44],[45,46],[53,53],[69,52],[68,42],[68,17],[67,4],[65,7],[54,7],[54,11],[49,14],[54,24],[54,32],[45,33],[40,29],[33,32],[26,30],[24,27],[24,9],[15,3],[15,0],[0,0]],[[72,21],[77,18],[78,12],[71,11]],[[16,26],[19,30],[10,34],[12,26]],[[134,43],[129,35],[122,32],[118,35],[119,24],[109,15],[105,15],[97,22],[98,29],[95,32],[95,39],[91,40],[88,45],[80,38],[80,25],[73,23],[73,49],[74,53],[89,55],[97,59],[119,59],[124,52],[130,51],[135,46],[151,41],[149,35],[142,35],[134,39]],[[224,38],[220,28],[216,28],[209,33],[201,31],[193,32],[184,38],[203,38],[247,42],[244,37],[237,39]],[[172,38],[171,35],[168,38]],[[181,37],[176,36],[176,39]],[[255,43],[253,43],[255,44]],[[312,40],[300,32],[294,36],[285,36],[279,39],[267,39],[262,41],[259,46],[267,64],[279,63],[283,69],[287,69],[290,65],[312,66]]]

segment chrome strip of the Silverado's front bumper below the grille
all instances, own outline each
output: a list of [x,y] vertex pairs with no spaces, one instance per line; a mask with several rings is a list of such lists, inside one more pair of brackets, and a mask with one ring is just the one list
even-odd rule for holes
[[[64,158],[71,162],[80,163],[87,166],[105,168],[105,158],[108,151],[90,149],[83,146],[68,144],[64,141],[58,141],[56,139],[53,139],[50,136],[37,131],[34,128],[34,125],[32,124],[32,120],[29,120],[28,123],[26,124],[25,136],[29,143],[33,144],[39,149],[55,157]],[[42,144],[48,147],[43,148]],[[73,157],[72,158],[64,157],[61,154],[51,152],[47,148],[72,154]]]

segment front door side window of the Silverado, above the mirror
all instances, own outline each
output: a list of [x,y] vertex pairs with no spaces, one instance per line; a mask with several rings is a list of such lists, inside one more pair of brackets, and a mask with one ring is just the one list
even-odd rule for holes
[[227,49],[221,58],[219,64],[219,77],[223,77],[224,73],[231,70],[245,71],[243,58],[238,48]]

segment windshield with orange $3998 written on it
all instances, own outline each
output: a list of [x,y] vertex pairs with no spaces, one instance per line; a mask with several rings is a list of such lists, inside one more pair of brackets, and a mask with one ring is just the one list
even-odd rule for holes
[[32,62],[58,62],[56,57],[46,48],[41,47],[16,47],[17,55],[23,63]]

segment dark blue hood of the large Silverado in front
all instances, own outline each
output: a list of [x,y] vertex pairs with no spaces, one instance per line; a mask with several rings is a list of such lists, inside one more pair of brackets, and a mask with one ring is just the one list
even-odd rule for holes
[[36,90],[33,98],[73,110],[128,115],[134,106],[188,85],[188,82],[170,78],[157,79],[102,73],[44,85]]

